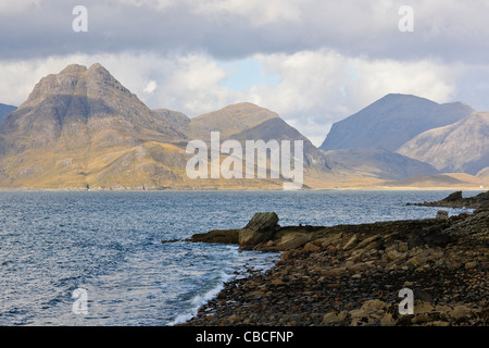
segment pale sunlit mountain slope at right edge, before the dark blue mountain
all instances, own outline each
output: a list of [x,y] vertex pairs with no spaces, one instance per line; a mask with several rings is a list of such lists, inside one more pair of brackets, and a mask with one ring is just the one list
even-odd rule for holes
[[476,175],[489,164],[489,112],[475,112],[452,125],[427,130],[398,152],[441,172]]

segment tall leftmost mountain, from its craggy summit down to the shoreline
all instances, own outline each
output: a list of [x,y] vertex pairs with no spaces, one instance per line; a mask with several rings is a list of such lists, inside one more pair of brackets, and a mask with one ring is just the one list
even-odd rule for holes
[[102,65],[72,64],[3,119],[0,186],[165,186],[185,171],[180,138]]

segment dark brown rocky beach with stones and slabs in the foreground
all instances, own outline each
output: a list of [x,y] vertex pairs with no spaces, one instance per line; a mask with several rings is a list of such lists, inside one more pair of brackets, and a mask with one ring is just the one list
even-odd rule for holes
[[[283,227],[265,212],[241,229],[193,235],[189,241],[281,256],[266,272],[226,283],[181,325],[487,326],[488,196],[477,196],[473,213],[450,217]],[[405,288],[412,314],[400,313]]]

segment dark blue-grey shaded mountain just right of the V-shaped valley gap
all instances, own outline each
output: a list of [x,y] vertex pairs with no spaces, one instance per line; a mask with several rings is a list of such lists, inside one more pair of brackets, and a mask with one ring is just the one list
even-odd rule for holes
[[410,95],[387,95],[335,123],[319,149],[381,148],[394,151],[428,129],[462,120],[474,110],[460,102],[439,104]]

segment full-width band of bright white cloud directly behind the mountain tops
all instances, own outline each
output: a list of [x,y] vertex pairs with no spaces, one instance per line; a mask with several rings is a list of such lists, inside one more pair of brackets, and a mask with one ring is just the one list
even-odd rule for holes
[[334,122],[389,92],[413,94],[437,102],[453,101],[459,97],[456,86],[469,71],[463,64],[447,65],[429,59],[401,62],[346,57],[333,50],[256,54],[252,59],[265,74],[280,76],[279,83],[229,89],[222,84],[228,72],[211,57],[197,53],[73,54],[4,61],[0,64],[0,102],[18,105],[42,76],[58,73],[71,63],[89,66],[99,62],[152,109],[167,108],[195,116],[249,101],[279,113],[319,146]]

